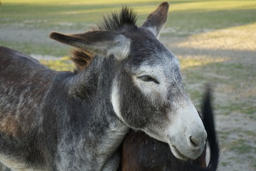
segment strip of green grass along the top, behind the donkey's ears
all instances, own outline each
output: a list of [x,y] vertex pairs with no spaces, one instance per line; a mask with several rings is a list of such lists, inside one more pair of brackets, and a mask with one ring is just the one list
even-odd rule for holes
[[[131,6],[139,14],[142,24],[149,12],[161,1],[2,1],[1,26],[22,28],[90,28],[100,21],[103,14],[117,11],[122,4]],[[227,28],[255,22],[256,1],[169,1],[167,27],[178,33],[203,29]],[[240,15],[242,14],[242,15]],[[225,16],[225,17],[223,17]],[[68,23],[68,24],[67,24]],[[67,24],[67,25],[65,25]]]

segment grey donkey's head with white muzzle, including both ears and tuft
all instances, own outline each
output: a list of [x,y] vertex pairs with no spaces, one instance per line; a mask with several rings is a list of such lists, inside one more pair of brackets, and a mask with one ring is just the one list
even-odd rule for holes
[[206,130],[183,88],[178,59],[158,40],[168,9],[168,3],[161,4],[137,27],[134,13],[123,8],[93,31],[51,33],[50,38],[114,58],[110,99],[115,115],[130,128],[167,142],[179,159],[196,159]]

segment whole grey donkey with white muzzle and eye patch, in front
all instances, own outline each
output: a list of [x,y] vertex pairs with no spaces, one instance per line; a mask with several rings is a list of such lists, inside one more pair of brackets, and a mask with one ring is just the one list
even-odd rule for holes
[[179,159],[201,155],[206,130],[177,58],[157,39],[168,9],[161,4],[141,27],[124,7],[87,33],[51,33],[85,54],[73,58],[75,72],[1,47],[0,162],[14,170],[117,170],[129,128],[167,142]]

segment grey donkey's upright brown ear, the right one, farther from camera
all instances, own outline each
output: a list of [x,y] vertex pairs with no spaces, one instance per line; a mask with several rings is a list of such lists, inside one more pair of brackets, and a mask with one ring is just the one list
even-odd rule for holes
[[161,28],[164,26],[167,19],[168,9],[168,2],[159,5],[159,7],[148,16],[142,27],[148,28],[154,36],[159,38]]

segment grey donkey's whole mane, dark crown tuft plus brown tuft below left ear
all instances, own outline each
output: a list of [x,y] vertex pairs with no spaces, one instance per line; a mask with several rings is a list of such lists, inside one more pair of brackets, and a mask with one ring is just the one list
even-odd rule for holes
[[[123,26],[137,27],[136,21],[137,14],[127,6],[123,6],[119,13],[113,12],[110,16],[103,16],[102,22],[97,24],[97,28],[93,28],[93,30],[117,31]],[[80,71],[90,65],[93,57],[94,54],[88,51],[80,48],[74,48],[71,51],[70,60],[75,63],[75,70]]]

